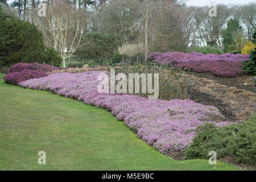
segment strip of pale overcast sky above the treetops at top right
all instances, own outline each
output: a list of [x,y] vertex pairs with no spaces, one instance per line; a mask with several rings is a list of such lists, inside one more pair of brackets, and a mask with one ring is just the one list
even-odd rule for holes
[[255,0],[187,0],[187,5],[206,6],[209,5],[211,2],[225,5],[243,5],[250,2],[255,2]]

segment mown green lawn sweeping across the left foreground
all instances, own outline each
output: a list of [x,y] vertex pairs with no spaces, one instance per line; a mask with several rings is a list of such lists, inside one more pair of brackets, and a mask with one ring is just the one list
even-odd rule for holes
[[[237,170],[208,160],[176,161],[148,146],[109,112],[0,75],[1,170]],[[46,152],[46,165],[38,152]]]

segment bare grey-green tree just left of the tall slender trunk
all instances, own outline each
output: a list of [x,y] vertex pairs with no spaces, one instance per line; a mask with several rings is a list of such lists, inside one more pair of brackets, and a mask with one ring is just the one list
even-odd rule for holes
[[101,32],[111,34],[117,39],[118,46],[135,40],[138,23],[141,20],[141,3],[138,0],[114,0],[103,7],[98,14]]

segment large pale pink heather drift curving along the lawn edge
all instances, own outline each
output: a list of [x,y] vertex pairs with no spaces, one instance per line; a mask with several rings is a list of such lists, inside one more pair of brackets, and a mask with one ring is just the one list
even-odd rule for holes
[[163,154],[185,150],[192,143],[198,125],[213,122],[221,127],[230,123],[222,121],[224,117],[216,107],[190,100],[148,100],[132,94],[99,94],[97,76],[100,73],[55,73],[19,85],[48,90],[108,110]]

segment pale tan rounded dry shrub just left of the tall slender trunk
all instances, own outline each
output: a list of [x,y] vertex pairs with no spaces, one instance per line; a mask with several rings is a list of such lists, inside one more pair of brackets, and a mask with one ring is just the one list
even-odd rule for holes
[[127,55],[127,56],[134,56],[138,53],[144,53],[144,46],[140,43],[133,43],[133,44],[123,44],[121,47],[118,48],[118,53],[120,55]]

